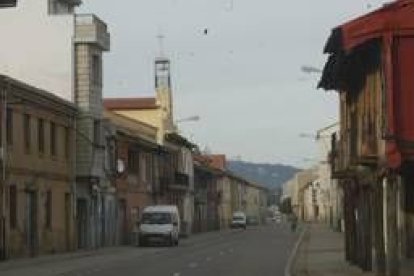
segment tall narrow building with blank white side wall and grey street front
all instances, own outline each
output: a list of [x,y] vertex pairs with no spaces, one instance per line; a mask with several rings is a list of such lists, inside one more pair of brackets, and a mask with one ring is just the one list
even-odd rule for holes
[[81,4],[17,1],[16,8],[2,9],[0,70],[77,106],[77,241],[79,248],[96,248],[115,235],[107,227],[115,219],[115,194],[105,173],[102,119],[102,56],[109,51],[110,35],[96,16],[76,14]]

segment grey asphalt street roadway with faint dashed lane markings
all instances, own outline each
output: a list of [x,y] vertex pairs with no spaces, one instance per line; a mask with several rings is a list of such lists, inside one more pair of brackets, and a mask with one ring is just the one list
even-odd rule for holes
[[0,264],[8,275],[283,275],[297,234],[286,225],[195,235],[179,247],[113,248],[94,254],[45,257]]

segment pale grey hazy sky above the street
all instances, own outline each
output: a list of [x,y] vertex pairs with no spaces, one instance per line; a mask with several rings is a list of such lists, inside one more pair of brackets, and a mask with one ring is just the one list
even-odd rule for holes
[[337,120],[337,97],[300,68],[322,68],[330,30],[384,2],[84,0],[79,12],[97,14],[111,32],[105,96],[153,95],[162,33],[175,117],[201,117],[180,124],[185,135],[230,158],[304,167],[317,150],[299,136]]

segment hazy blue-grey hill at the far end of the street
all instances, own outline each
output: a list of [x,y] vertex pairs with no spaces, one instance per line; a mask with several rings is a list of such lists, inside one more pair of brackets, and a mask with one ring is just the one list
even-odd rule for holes
[[300,169],[282,164],[258,164],[244,161],[227,161],[227,168],[250,181],[270,189],[279,188]]

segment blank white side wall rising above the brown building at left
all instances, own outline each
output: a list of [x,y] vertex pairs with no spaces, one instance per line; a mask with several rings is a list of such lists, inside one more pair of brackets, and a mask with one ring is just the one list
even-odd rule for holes
[[73,101],[74,15],[48,15],[48,0],[0,10],[0,73]]

